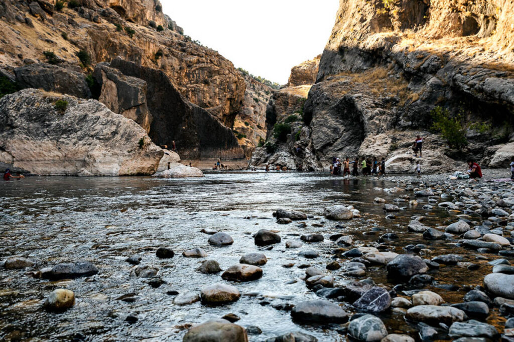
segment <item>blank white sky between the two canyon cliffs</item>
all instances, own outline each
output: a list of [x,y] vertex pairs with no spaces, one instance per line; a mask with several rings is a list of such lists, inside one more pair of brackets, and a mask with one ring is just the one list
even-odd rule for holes
[[161,0],[184,34],[234,66],[280,84],[291,67],[323,52],[338,0]]

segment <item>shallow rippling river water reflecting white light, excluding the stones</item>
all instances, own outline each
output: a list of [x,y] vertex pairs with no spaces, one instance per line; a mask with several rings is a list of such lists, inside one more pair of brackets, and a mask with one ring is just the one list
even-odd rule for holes
[[[413,182],[419,180],[413,178]],[[36,266],[25,270],[0,269],[0,340],[181,340],[190,324],[219,318],[227,313],[241,317],[236,324],[258,326],[260,335],[250,335],[250,341],[291,331],[303,331],[320,341],[346,340],[338,333],[338,325],[301,325],[291,320],[288,311],[273,308],[274,304],[295,304],[317,299],[305,286],[305,270],[309,264],[325,270],[333,261],[332,249],[338,248],[329,236],[333,233],[351,235],[357,246],[374,246],[377,238],[395,232],[400,239],[390,242],[388,250],[405,253],[403,247],[424,243],[432,256],[462,253],[465,261],[480,263],[478,271],[457,266],[431,271],[435,283],[427,287],[449,303],[462,301],[467,286],[481,285],[491,266],[487,260],[477,260],[475,251],[455,248],[453,242],[424,242],[421,234],[407,231],[414,215],[430,215],[424,221],[435,227],[457,220],[444,209],[428,212],[423,204],[406,208],[397,218],[386,219],[382,205],[374,205],[380,196],[392,203],[400,194],[388,194],[374,187],[390,188],[396,183],[384,179],[342,179],[321,173],[226,172],[207,173],[203,178],[158,179],[151,177],[28,177],[22,181],[0,184],[0,260],[12,255],[27,257]],[[410,193],[412,196],[412,193]],[[343,222],[345,228],[335,228],[337,222],[326,220],[322,213],[328,205],[354,205],[362,218]],[[306,228],[297,222],[279,225],[272,217],[278,208],[296,209],[314,215],[306,220]],[[203,228],[230,234],[234,244],[228,247],[210,246],[210,235]],[[277,230],[280,244],[271,250],[254,245],[252,234],[259,229]],[[300,239],[301,234],[321,233],[321,243],[304,243],[301,249],[286,249],[286,239]],[[155,250],[172,247],[172,259],[158,259]],[[222,282],[221,273],[202,274],[195,269],[205,258],[186,258],[181,254],[192,248],[203,248],[208,259],[217,260],[222,269],[236,264],[243,254],[262,251],[268,263],[262,266],[259,280],[234,283],[241,292],[235,303],[209,307],[200,302],[176,306],[169,291],[196,291]],[[316,250],[320,256],[305,259],[301,250]],[[141,264],[155,265],[158,276],[166,281],[158,288],[149,279],[129,277],[132,265],[125,259],[140,254]],[[480,254],[486,257],[498,256]],[[431,258],[430,255],[423,256]],[[344,265],[344,259],[338,259]],[[91,261],[99,269],[92,277],[52,282],[27,275],[28,271],[63,262]],[[294,263],[292,268],[282,265]],[[343,275],[343,269],[327,271],[336,279],[336,286],[356,280]],[[392,288],[383,267],[369,267],[366,277]],[[294,280],[291,281],[291,280]],[[358,280],[358,279],[357,279]],[[286,284],[287,283],[287,284]],[[289,284],[292,283],[292,284]],[[439,288],[455,284],[457,291]],[[47,313],[42,303],[49,292],[66,288],[75,292],[76,304],[64,313]],[[116,298],[136,294],[137,300],[126,303]],[[401,292],[398,293],[402,295]],[[349,303],[340,303],[355,312]],[[136,323],[125,321],[127,315],[138,317]],[[380,315],[389,333],[407,333],[417,338],[415,326],[402,314]],[[497,327],[501,320],[492,310],[487,322]],[[502,329],[499,329],[502,331]]]

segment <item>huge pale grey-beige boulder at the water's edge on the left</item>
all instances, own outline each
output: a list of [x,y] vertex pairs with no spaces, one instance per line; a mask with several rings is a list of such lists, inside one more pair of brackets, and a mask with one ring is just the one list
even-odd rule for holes
[[35,89],[0,100],[0,150],[0,162],[41,175],[153,174],[163,155],[139,125],[97,100]]

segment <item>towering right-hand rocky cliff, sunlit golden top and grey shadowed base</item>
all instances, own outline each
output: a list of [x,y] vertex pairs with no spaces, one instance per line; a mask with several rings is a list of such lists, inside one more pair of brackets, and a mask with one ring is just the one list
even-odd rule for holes
[[[514,151],[513,10],[512,1],[341,0],[302,127],[285,143],[271,138],[276,151],[258,151],[251,165],[280,154],[289,167],[319,170],[333,156],[359,155],[412,172],[410,146],[421,134],[426,171],[455,170],[467,156],[506,166],[514,154],[505,153]],[[436,106],[462,125],[461,151],[432,133]]]

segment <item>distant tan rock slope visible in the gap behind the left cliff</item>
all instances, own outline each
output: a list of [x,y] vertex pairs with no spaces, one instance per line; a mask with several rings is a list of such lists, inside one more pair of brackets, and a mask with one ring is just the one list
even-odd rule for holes
[[234,133],[238,142],[250,158],[255,147],[266,139],[266,108],[270,97],[276,90],[243,74],[246,91],[241,110],[234,121]]

